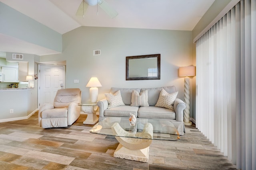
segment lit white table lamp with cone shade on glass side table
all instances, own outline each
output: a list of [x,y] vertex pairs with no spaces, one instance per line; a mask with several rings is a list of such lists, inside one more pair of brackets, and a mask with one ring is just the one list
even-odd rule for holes
[[99,80],[97,77],[92,77],[89,82],[87,83],[86,87],[91,87],[90,88],[90,100],[92,103],[97,102],[98,99],[98,88],[101,87],[102,85],[100,84]]

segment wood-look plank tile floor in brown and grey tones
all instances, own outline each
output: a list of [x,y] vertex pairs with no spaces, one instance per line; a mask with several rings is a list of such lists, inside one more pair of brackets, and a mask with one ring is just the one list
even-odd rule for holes
[[114,158],[114,137],[89,133],[86,115],[66,128],[42,129],[37,113],[0,123],[1,170],[181,170],[236,169],[194,125],[179,141],[153,140],[149,162]]

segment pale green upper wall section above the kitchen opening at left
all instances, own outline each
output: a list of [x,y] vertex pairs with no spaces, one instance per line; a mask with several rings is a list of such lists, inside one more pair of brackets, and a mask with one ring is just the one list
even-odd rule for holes
[[62,52],[62,35],[0,2],[0,33]]

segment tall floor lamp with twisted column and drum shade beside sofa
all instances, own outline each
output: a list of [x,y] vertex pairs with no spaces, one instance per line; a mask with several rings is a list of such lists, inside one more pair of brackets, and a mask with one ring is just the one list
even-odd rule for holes
[[186,66],[179,68],[179,76],[185,77],[184,78],[184,102],[186,104],[186,109],[184,110],[184,124],[185,125],[192,125],[192,122],[189,121],[189,76],[196,75],[196,67],[195,66]]

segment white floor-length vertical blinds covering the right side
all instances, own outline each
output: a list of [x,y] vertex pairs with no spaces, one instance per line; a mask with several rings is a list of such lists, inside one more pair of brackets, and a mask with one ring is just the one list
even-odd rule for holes
[[196,127],[241,169],[256,169],[256,0],[196,41]]

